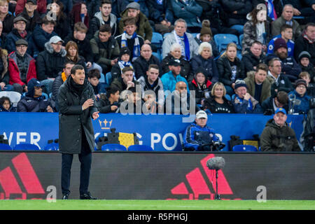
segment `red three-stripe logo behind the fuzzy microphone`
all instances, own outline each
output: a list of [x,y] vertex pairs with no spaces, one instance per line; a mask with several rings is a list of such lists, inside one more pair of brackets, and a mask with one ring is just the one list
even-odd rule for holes
[[[207,161],[214,158],[214,156],[214,154],[210,154],[202,159],[200,161],[202,169],[196,167],[186,174],[186,180],[172,188],[173,198],[167,198],[167,200],[214,200],[216,195],[216,171],[207,167]],[[222,170],[218,171],[218,194],[221,195],[223,200],[230,200],[225,198],[224,195],[233,195]],[[241,199],[235,198],[234,200]]]

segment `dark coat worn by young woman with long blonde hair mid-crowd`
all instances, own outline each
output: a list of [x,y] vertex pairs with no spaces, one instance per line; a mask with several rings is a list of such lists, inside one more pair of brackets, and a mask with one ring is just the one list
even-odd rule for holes
[[[236,63],[237,63],[237,76],[235,80],[237,79],[244,79],[246,78],[246,74],[244,73],[244,64],[241,62],[241,60],[236,57],[235,58]],[[220,57],[216,61],[216,66],[218,67],[218,75],[219,75],[219,82],[223,83],[224,85],[232,85],[232,69],[230,66],[230,62],[228,57],[223,56]]]

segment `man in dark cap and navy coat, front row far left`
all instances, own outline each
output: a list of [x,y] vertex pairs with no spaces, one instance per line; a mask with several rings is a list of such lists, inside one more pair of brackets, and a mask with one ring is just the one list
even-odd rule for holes
[[43,97],[43,85],[36,78],[27,83],[27,93],[18,102],[18,112],[54,112],[51,99]]

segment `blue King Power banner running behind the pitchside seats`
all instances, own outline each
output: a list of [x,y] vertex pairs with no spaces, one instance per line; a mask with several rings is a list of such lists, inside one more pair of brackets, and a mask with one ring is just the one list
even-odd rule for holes
[[[272,116],[253,114],[214,114],[208,117],[207,125],[214,128],[228,151],[231,135],[241,139],[253,139],[261,134]],[[58,139],[57,113],[0,113],[0,134],[4,134],[13,148],[16,144],[36,144],[45,148],[50,139]],[[30,123],[31,120],[31,123]],[[295,130],[297,139],[302,133],[303,116],[288,116],[287,123]],[[137,133],[139,144],[151,146],[154,151],[181,151],[183,134],[190,123],[179,115],[126,115],[100,114],[93,121],[94,136],[102,137],[116,128],[116,132]]]

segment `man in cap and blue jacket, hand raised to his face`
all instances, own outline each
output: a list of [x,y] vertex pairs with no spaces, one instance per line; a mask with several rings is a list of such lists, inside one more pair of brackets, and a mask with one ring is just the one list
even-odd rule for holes
[[247,92],[244,80],[236,80],[235,99],[232,103],[236,113],[262,113],[259,102]]

